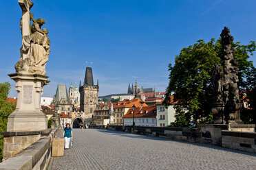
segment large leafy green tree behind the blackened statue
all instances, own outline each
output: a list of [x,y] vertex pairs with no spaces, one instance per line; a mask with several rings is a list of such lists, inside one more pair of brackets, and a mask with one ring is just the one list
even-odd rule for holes
[[[239,88],[248,88],[248,76],[253,70],[253,62],[248,61],[255,51],[255,42],[240,45],[234,42],[234,58],[239,67]],[[198,40],[194,45],[180,51],[175,56],[175,64],[169,64],[169,86],[167,87],[165,106],[169,106],[171,94],[174,94],[175,122],[172,126],[189,127],[199,123],[211,123],[211,104],[213,103],[213,84],[211,70],[214,63],[220,64],[222,55],[221,40],[212,38],[209,42]]]

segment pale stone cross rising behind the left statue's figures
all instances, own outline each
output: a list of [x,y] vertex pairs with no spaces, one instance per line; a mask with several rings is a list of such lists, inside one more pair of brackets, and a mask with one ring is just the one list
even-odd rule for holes
[[34,5],[30,0],[18,0],[22,10],[21,32],[22,36],[30,35],[30,9]]

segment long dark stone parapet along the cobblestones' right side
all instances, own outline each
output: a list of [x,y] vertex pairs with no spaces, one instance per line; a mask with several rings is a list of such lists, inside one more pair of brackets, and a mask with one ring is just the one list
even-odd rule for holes
[[[94,128],[100,128],[95,127]],[[255,125],[198,125],[189,127],[147,127],[109,125],[109,130],[145,134],[195,143],[221,145],[231,149],[256,152]],[[239,132],[240,130],[240,132]],[[243,132],[248,130],[248,132]]]

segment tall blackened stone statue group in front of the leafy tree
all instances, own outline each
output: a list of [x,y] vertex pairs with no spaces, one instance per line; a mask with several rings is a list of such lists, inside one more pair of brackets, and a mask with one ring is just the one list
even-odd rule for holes
[[[222,30],[222,66],[215,63],[212,71],[215,99],[213,103],[213,123],[240,123],[241,102],[237,87],[239,69],[233,58],[233,36],[228,27]],[[223,67],[223,69],[222,69]]]

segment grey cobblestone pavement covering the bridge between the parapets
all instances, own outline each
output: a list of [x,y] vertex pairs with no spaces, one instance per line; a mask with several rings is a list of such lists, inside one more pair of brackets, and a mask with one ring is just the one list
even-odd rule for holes
[[64,169],[256,169],[256,154],[109,130],[74,129],[74,145],[54,157]]

